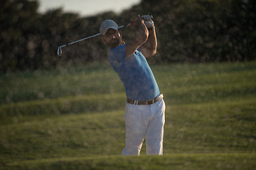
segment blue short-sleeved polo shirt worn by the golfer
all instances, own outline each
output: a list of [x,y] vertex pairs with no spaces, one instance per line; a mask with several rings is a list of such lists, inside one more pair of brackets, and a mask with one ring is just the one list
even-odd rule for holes
[[109,50],[108,60],[124,84],[127,98],[146,101],[159,96],[159,86],[142,52],[125,57],[125,44]]

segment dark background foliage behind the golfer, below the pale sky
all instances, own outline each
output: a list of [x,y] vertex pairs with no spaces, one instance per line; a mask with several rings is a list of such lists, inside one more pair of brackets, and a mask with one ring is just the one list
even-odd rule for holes
[[[105,62],[100,38],[63,48],[59,45],[98,33],[111,18],[129,23],[132,12],[154,16],[157,57],[149,62],[251,61],[256,57],[256,1],[142,0],[120,14],[107,12],[80,17],[57,8],[38,13],[38,1],[4,0],[0,7],[0,72],[45,69],[84,62]],[[124,40],[131,38],[130,28]]]

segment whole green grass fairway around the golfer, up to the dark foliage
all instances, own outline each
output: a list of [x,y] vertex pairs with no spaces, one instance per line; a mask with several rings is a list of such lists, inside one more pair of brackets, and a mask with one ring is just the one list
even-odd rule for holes
[[0,75],[0,169],[255,169],[256,62],[151,66],[164,156],[121,157],[122,82],[109,65]]

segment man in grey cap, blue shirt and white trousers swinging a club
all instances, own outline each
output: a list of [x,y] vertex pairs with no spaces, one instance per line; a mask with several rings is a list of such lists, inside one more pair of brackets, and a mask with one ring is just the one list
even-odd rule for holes
[[108,60],[124,84],[127,95],[124,120],[126,147],[122,155],[139,155],[144,139],[146,154],[163,154],[164,96],[146,61],[156,54],[156,32],[151,17],[131,18],[137,28],[135,37],[124,43],[117,23],[103,21],[100,25],[102,42],[109,47]]

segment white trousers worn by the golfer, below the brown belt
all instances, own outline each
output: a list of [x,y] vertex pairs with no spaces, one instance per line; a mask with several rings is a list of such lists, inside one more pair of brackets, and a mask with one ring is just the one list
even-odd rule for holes
[[164,99],[149,106],[126,104],[126,147],[122,155],[139,155],[144,138],[146,154],[163,154]]

